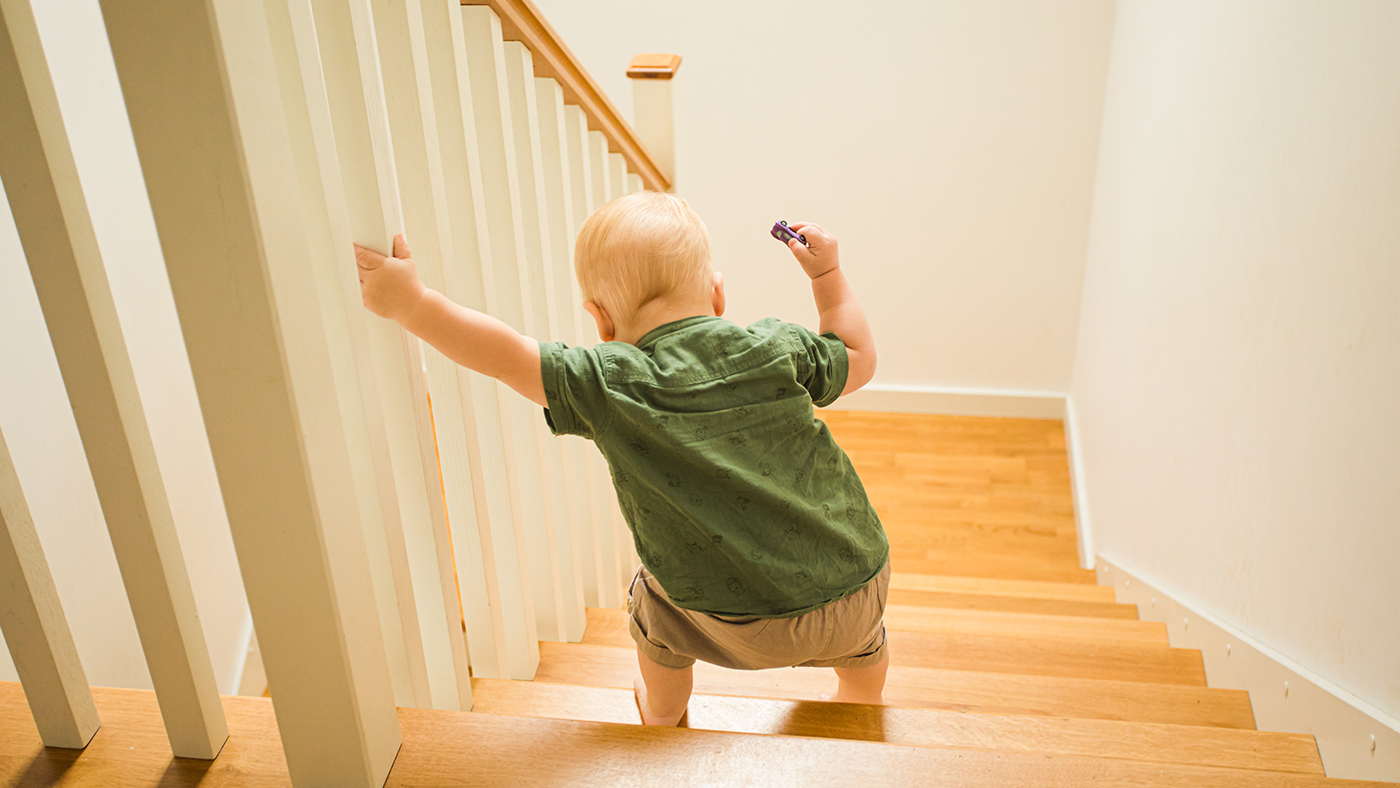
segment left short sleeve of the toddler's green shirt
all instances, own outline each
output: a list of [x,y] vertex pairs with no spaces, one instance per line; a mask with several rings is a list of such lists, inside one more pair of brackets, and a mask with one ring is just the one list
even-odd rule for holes
[[608,386],[598,351],[542,342],[539,371],[545,384],[545,421],[550,431],[596,438],[608,425]]

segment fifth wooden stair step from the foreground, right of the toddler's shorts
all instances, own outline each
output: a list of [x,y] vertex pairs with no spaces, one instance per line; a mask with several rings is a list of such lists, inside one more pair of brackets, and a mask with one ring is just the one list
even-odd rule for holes
[[983,634],[1019,638],[1088,640],[1109,645],[1166,647],[1166,624],[1130,619],[1037,616],[988,610],[946,610],[914,605],[886,605],[885,626],[945,634]]

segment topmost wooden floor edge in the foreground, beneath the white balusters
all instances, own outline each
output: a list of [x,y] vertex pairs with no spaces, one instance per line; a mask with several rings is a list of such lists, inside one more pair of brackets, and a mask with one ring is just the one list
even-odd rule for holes
[[[223,698],[230,742],[214,761],[172,759],[153,693],[99,689],[105,725],[81,753],[43,750],[18,684],[0,683],[0,782],[22,788],[290,785],[265,698]],[[802,736],[753,736],[431,710],[399,710],[388,787],[965,785],[1029,788],[1383,788],[1316,774]]]

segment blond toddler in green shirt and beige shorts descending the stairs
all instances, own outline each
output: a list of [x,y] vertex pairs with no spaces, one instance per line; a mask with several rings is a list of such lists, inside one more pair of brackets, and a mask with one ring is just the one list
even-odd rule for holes
[[[598,444],[643,565],[627,593],[648,725],[676,725],[696,659],[755,670],[834,668],[830,700],[882,703],[889,542],[812,406],[875,372],[836,238],[794,224],[820,336],[721,318],[724,279],[685,202],[619,197],[578,234],[575,273],[603,340],[542,343],[423,287],[403,238],[357,248],[365,307],[545,407]],[[823,698],[826,696],[822,696]]]

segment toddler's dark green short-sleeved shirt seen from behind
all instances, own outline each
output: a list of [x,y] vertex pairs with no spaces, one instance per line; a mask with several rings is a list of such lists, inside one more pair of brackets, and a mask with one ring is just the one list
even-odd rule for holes
[[637,554],[673,603],[787,617],[874,578],[889,542],[812,406],[846,388],[846,346],[766,319],[686,318],[636,344],[540,343],[556,435],[598,444]]

